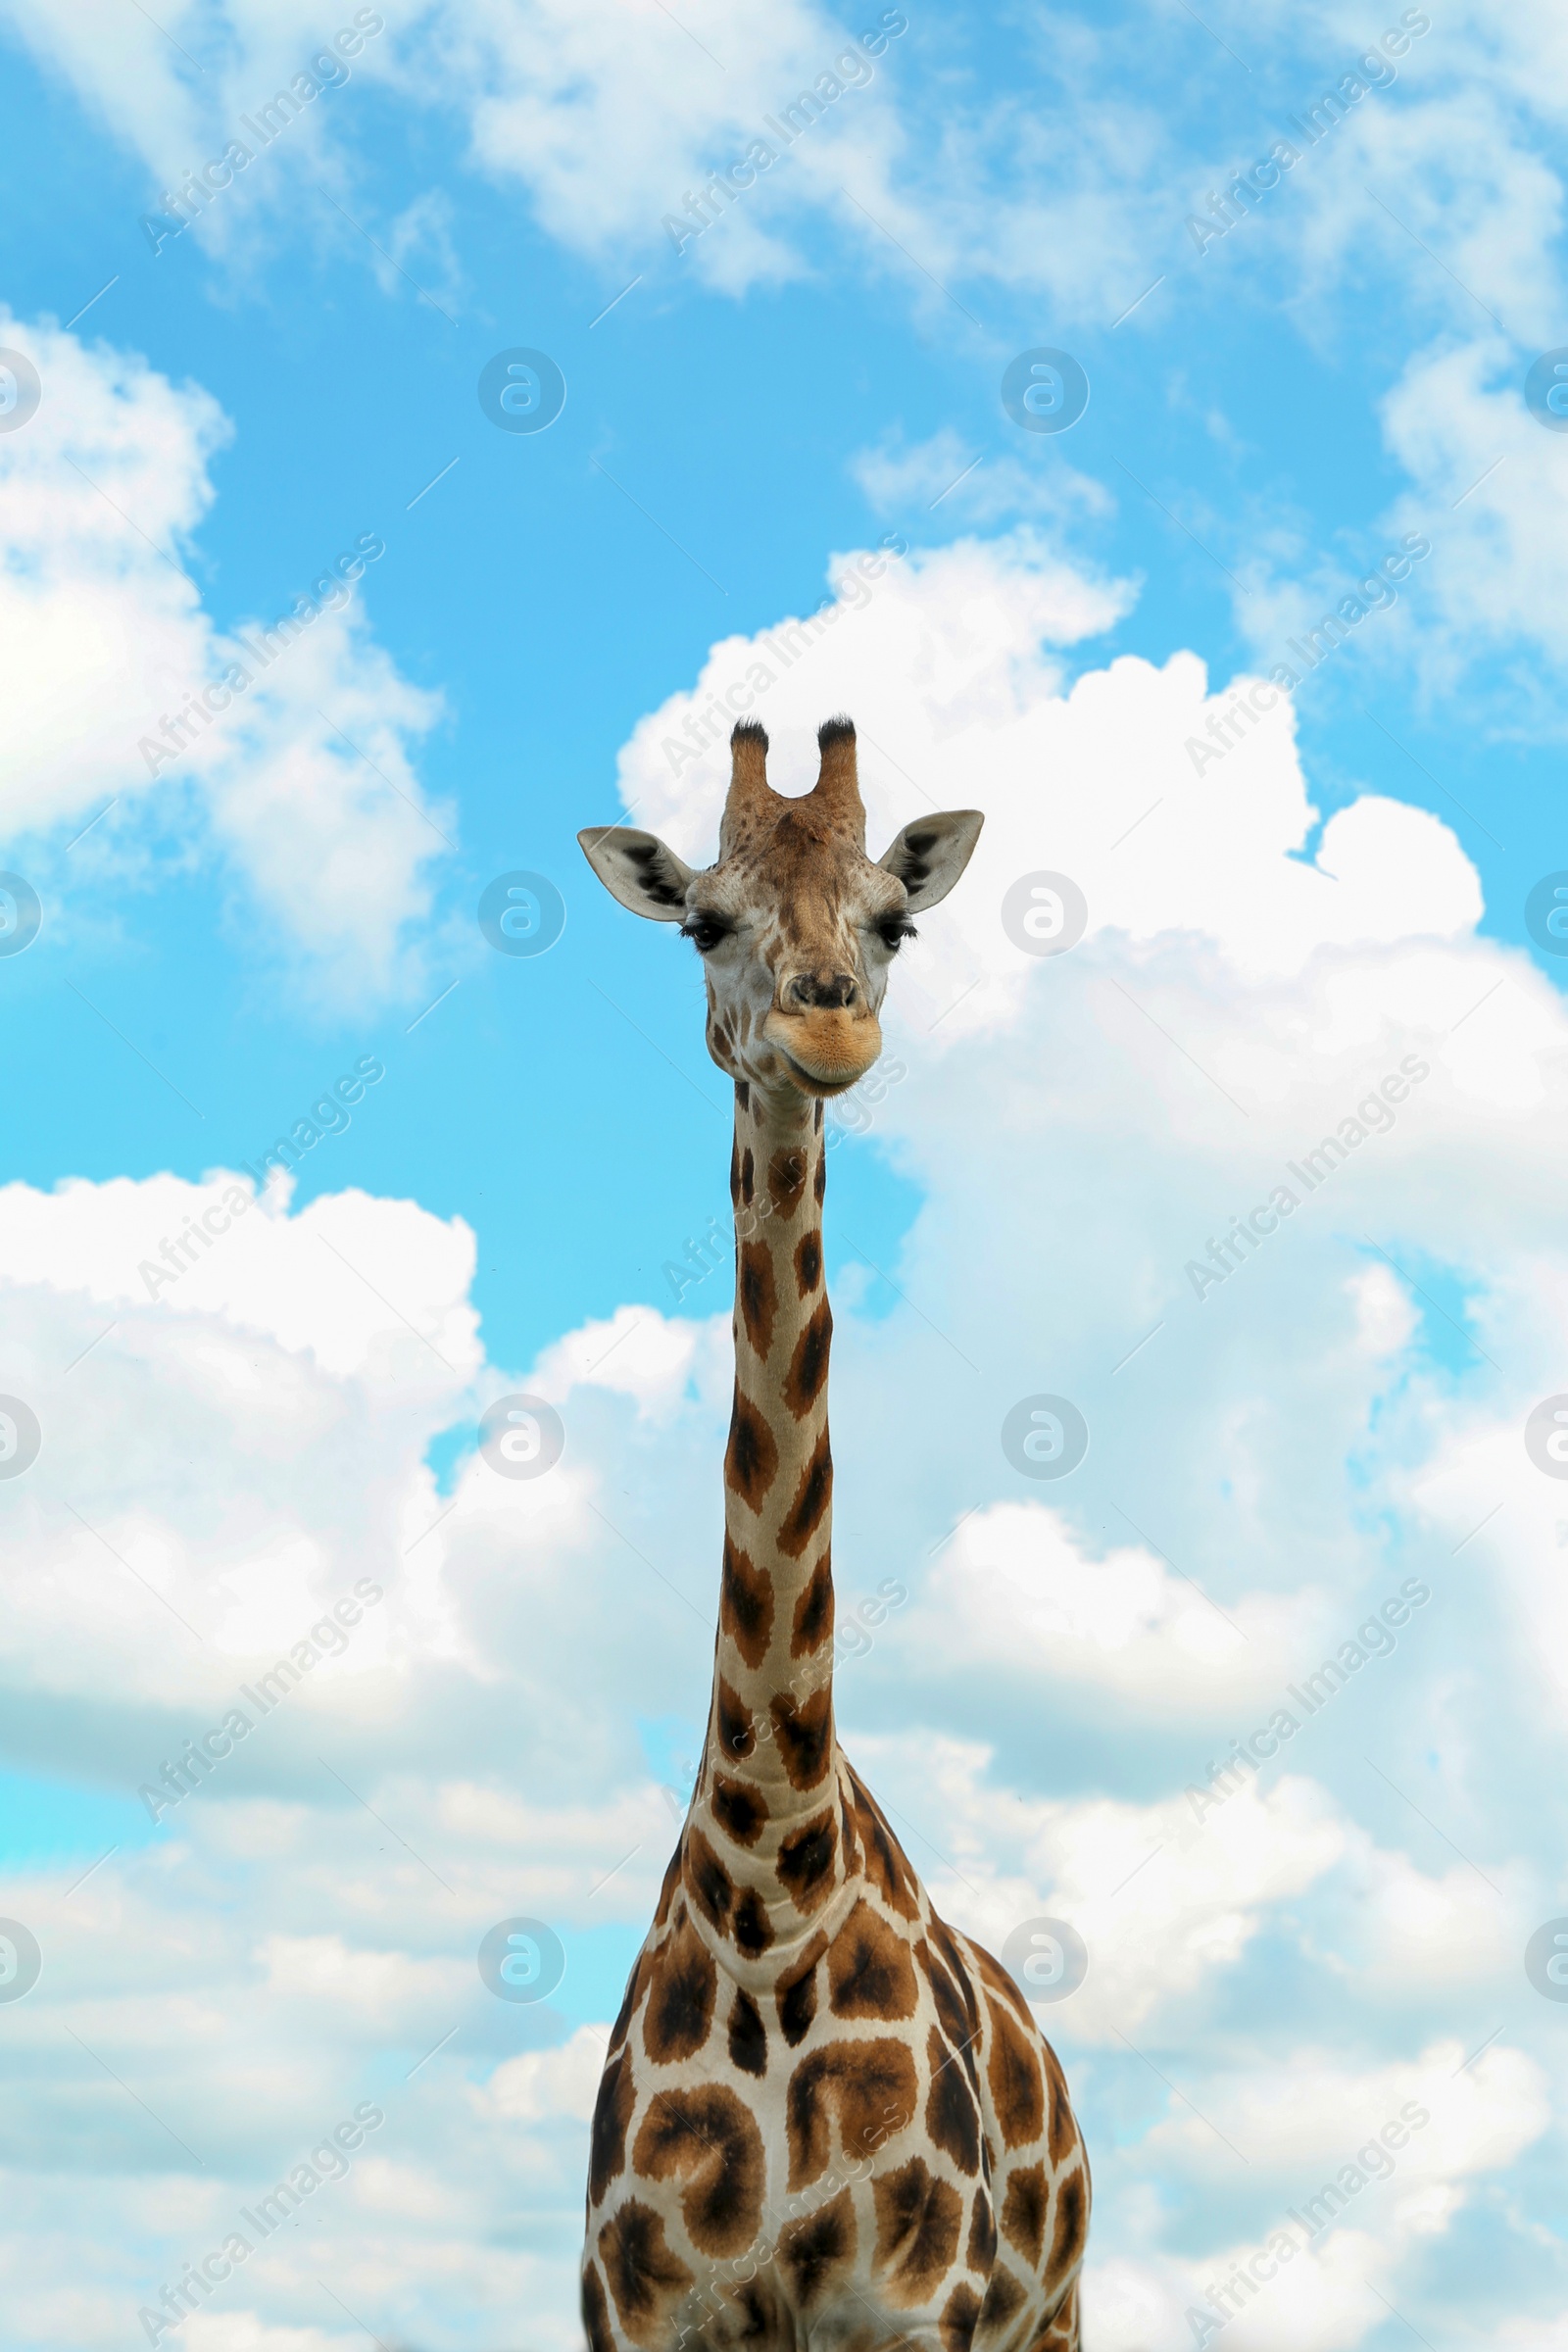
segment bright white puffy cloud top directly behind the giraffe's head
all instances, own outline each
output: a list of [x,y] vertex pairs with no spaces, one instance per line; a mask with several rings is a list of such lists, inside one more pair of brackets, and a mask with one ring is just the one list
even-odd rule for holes
[[[1326,946],[1462,936],[1479,920],[1458,842],[1403,802],[1352,802],[1300,856],[1316,811],[1274,687],[1258,689],[1265,710],[1246,724],[1229,713],[1253,682],[1208,694],[1192,654],[1159,670],[1124,656],[1063,694],[1056,649],[1105,630],[1126,590],[1081,581],[1032,539],[959,541],[889,560],[872,581],[835,557],[827,579],[837,600],[820,621],[726,637],[689,694],[637,724],[621,797],[705,861],[733,717],[762,717],[776,786],[802,790],[816,727],[846,708],[860,727],[872,854],[926,807],[980,804],[964,889],[898,974],[896,1002],[917,1021],[924,1011],[922,1025],[947,1007],[947,1035],[1018,1018],[1039,962],[1006,938],[999,903],[1032,870],[1079,884],[1088,936],[1201,934],[1255,978],[1300,971]],[[696,755],[689,720],[708,739]]]

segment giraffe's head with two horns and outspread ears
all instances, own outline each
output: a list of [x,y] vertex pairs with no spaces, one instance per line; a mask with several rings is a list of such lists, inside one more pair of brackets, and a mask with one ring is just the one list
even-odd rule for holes
[[703,957],[708,1051],[731,1077],[844,1094],[882,1051],[879,1011],[910,915],[936,906],[969,866],[976,809],[917,816],[872,861],[856,779],[856,729],[827,720],[811,793],[769,786],[769,739],[743,720],[715,866],[693,873],[656,833],[578,833],[607,891],[654,922],[679,922]]

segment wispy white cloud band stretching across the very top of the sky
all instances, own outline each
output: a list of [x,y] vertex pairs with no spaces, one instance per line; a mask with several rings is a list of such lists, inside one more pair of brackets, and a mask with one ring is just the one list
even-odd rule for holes
[[[348,24],[353,12],[341,16]],[[1368,45],[1349,0],[1272,16],[1262,12],[1276,115],[1258,153],[1279,118],[1305,108]],[[308,71],[324,38],[306,0],[266,9],[197,0],[169,12],[167,35],[143,19],[127,24],[106,0],[68,16],[7,0],[5,19],[141,158],[148,202],[247,136],[240,115],[254,118]],[[731,294],[811,270],[811,228],[827,221],[865,268],[896,273],[945,325],[952,299],[933,280],[969,296],[971,315],[985,308],[973,285],[990,278],[1048,292],[1067,318],[1110,325],[1161,273],[1180,282],[1197,268],[1199,294],[1213,287],[1225,299],[1237,270],[1276,266],[1298,303],[1305,292],[1307,334],[1328,341],[1342,332],[1347,275],[1375,254],[1380,282],[1418,315],[1469,329],[1483,299],[1512,332],[1547,339],[1563,205],[1554,134],[1568,113],[1568,64],[1549,7],[1530,5],[1507,24],[1481,7],[1443,9],[1396,61],[1394,87],[1359,101],[1227,238],[1222,259],[1213,249],[1199,259],[1182,230],[1187,207],[1251,160],[1208,127],[1218,122],[1208,38],[1147,9],[1135,45],[1143,73],[1128,71],[1119,26],[1084,16],[1058,12],[1048,31],[1018,26],[1011,40],[1006,87],[976,85],[945,26],[917,16],[882,56],[849,68],[856,85],[679,261],[663,216],[715,169],[741,162],[752,141],[778,146],[764,118],[778,122],[853,47],[813,0],[745,24],[719,0],[689,0],[679,21],[656,0],[435,7],[371,35],[343,68],[350,85],[310,96],[282,141],[287,155],[308,158],[313,176],[348,193],[367,89],[409,111],[447,108],[465,125],[473,162],[522,186],[567,249],[607,270],[661,256]],[[188,235],[235,266],[275,233],[296,179],[282,153],[259,153]],[[425,191],[414,214],[404,207],[402,233],[425,223],[440,249],[430,214],[440,202],[440,191]],[[381,226],[381,242],[400,235]],[[317,233],[353,242],[329,207]],[[1161,315],[1157,296],[1131,332]]]

